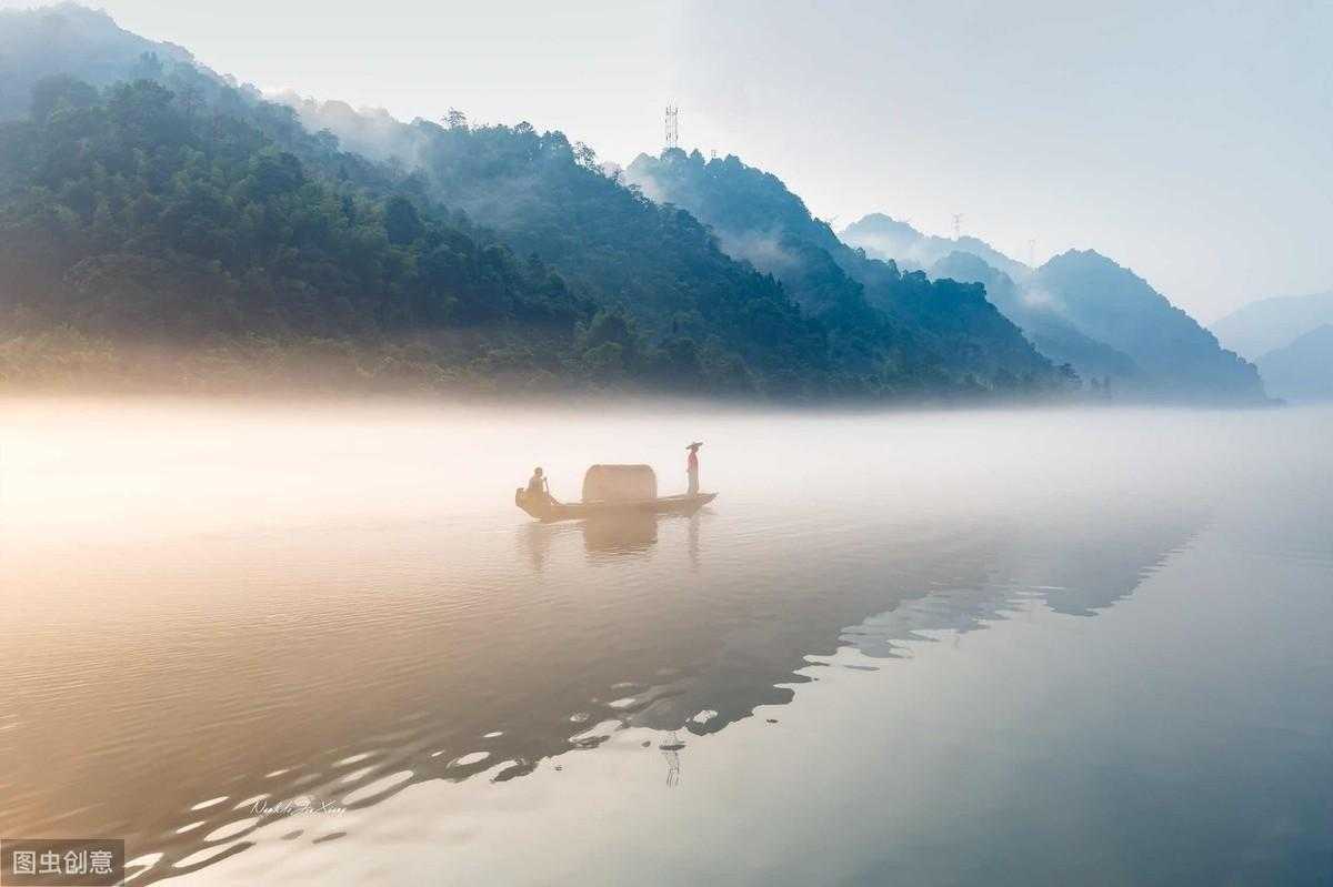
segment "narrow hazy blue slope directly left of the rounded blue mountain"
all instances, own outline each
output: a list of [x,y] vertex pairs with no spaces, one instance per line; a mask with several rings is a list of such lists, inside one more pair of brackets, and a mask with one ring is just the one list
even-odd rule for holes
[[1085,336],[1049,305],[1028,300],[1008,274],[980,257],[949,253],[930,266],[930,276],[984,285],[996,308],[1022,329],[1040,353],[1056,365],[1069,364],[1081,378],[1098,384],[1112,380],[1116,388],[1137,384],[1140,373],[1132,357]]

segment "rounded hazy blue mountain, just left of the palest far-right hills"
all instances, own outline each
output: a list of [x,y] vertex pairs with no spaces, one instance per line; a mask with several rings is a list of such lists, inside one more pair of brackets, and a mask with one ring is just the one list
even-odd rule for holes
[[1126,268],[1069,250],[1038,268],[1024,289],[1078,332],[1133,358],[1145,393],[1164,398],[1260,401],[1253,364],[1224,350],[1189,314]]

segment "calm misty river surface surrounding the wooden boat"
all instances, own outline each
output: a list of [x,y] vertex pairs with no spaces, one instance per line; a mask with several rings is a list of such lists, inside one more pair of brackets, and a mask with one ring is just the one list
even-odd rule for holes
[[[540,525],[649,462],[690,518]],[[132,883],[1333,880],[1333,412],[24,401],[0,834]]]

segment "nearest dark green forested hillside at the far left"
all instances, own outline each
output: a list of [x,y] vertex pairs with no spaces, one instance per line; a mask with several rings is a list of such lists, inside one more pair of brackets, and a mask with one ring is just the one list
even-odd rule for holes
[[227,369],[256,344],[341,342],[385,381],[527,382],[563,372],[592,320],[544,265],[289,111],[200,107],[152,80],[48,79],[0,127],[0,280],[11,376],[64,330],[93,352],[211,349]]

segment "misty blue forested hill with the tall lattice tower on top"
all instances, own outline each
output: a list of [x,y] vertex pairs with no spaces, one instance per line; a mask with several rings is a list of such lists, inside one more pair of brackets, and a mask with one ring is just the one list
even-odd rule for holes
[[717,234],[728,253],[773,274],[816,313],[890,318],[954,372],[982,380],[1057,378],[977,286],[901,274],[892,262],[846,246],[780,178],[737,157],[705,161],[697,150],[640,154],[625,178],[659,202],[684,206]]

